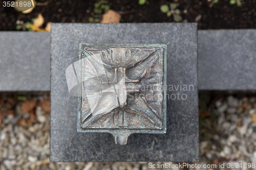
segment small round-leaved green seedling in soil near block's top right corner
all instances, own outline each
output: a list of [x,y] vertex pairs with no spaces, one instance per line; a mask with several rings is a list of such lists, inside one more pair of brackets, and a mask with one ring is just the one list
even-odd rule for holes
[[182,21],[182,17],[180,16],[180,10],[177,9],[178,4],[177,3],[170,3],[170,5],[162,5],[160,7],[160,10],[163,13],[166,13],[167,17],[170,17],[173,15],[174,20],[176,22]]

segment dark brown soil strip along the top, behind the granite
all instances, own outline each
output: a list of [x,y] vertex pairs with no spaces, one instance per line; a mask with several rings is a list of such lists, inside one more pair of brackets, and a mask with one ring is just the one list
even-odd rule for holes
[[[46,1],[41,1],[46,2]],[[6,17],[4,8],[0,7],[0,30],[16,30],[16,21],[30,21],[38,13],[42,13],[47,22],[88,22],[94,15],[96,0],[50,0],[47,6],[36,6],[29,14],[19,13]],[[173,17],[167,17],[160,11],[160,6],[176,2],[179,4],[183,22],[195,22],[198,19],[198,29],[253,29],[256,28],[256,0],[242,1],[243,5],[230,5],[229,0],[219,0],[213,4],[211,0],[147,0],[145,5],[139,5],[138,0],[105,1],[111,9],[122,14],[120,22],[173,22]],[[1,0],[0,0],[1,5]],[[200,19],[201,18],[201,19]]]

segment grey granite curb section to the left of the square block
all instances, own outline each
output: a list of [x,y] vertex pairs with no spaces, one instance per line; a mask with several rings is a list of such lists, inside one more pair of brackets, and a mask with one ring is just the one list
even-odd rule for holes
[[0,91],[49,91],[50,34],[0,32]]

